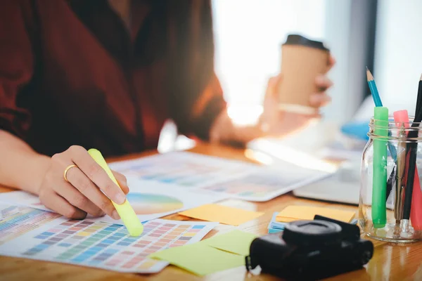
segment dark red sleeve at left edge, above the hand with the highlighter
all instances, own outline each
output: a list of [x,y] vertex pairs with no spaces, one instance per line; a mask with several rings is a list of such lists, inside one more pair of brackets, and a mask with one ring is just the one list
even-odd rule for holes
[[19,105],[19,92],[32,77],[29,7],[23,1],[0,1],[0,129],[23,138],[30,112]]

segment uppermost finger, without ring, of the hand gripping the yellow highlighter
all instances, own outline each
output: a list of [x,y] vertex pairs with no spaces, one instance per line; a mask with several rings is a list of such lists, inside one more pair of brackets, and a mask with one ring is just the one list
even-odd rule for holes
[[74,145],[68,151],[72,161],[98,188],[106,193],[110,200],[117,204],[123,204],[126,201],[126,195],[122,189],[113,183],[106,171],[92,159],[87,150]]

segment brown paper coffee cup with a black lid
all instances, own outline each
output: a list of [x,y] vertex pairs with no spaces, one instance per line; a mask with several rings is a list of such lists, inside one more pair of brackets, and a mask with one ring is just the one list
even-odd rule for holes
[[318,108],[310,105],[309,98],[319,91],[315,78],[328,71],[329,55],[330,51],[320,41],[288,35],[286,43],[281,45],[280,110],[306,115],[318,112]]

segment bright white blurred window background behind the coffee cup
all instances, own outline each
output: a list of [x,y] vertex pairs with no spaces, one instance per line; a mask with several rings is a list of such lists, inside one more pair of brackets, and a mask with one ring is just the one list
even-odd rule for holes
[[[212,0],[212,8],[215,68],[235,122],[252,124],[262,112],[267,81],[280,70],[281,44],[290,33],[324,41],[331,49],[336,64],[328,74],[334,82],[328,94],[333,101],[321,122],[279,143],[300,145],[310,131],[333,139],[347,122],[367,123],[373,102],[366,66],[390,111],[414,113],[422,72],[422,1]],[[194,145],[182,136],[175,143],[171,123],[164,132],[159,150]]]

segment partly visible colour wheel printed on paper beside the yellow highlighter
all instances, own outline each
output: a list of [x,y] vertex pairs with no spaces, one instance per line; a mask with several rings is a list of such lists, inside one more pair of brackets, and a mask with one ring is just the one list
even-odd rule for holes
[[183,202],[167,195],[133,192],[127,195],[127,200],[136,214],[158,214],[183,208]]

